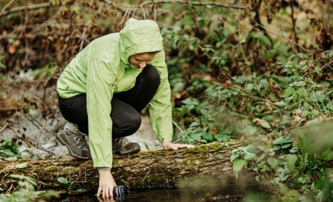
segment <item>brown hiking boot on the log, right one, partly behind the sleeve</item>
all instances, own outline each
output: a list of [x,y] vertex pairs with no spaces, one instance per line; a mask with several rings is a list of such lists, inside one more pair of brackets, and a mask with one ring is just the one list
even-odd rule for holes
[[129,142],[126,137],[112,140],[112,153],[120,155],[129,155],[140,151],[140,145],[136,142]]

